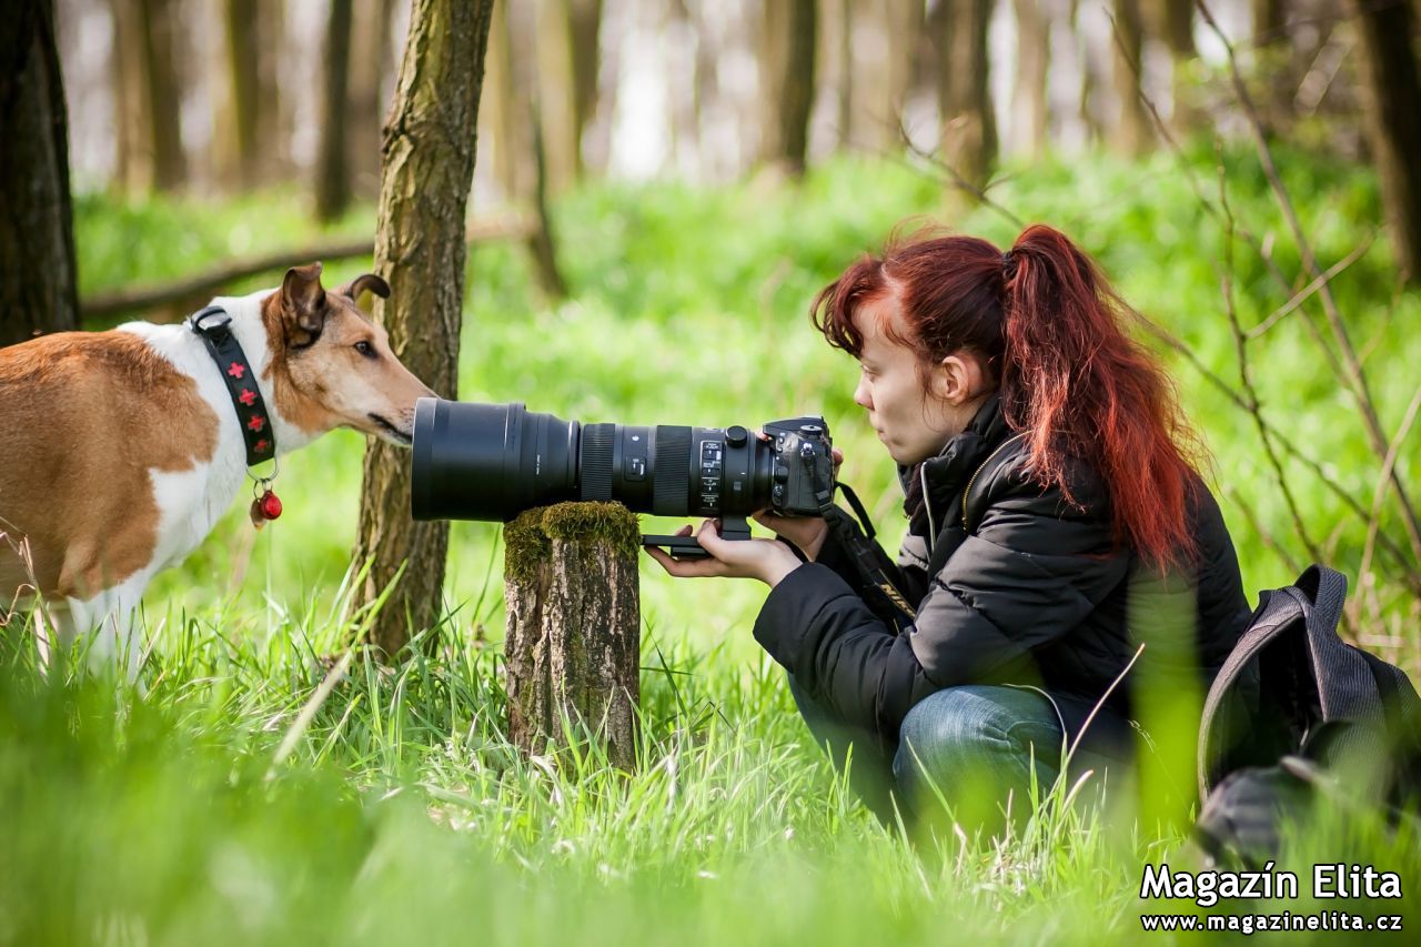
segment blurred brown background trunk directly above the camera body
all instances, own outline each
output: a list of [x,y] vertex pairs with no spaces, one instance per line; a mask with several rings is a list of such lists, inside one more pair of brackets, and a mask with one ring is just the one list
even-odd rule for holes
[[804,173],[809,114],[814,105],[816,0],[764,6],[760,34],[760,104],[764,108],[760,158]]

